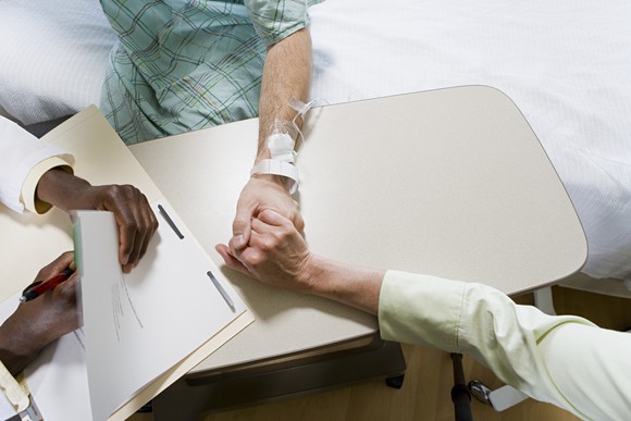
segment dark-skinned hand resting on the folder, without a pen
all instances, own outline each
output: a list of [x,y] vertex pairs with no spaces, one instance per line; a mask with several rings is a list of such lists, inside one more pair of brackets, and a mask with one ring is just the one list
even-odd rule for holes
[[92,186],[62,170],[50,170],[37,186],[39,200],[65,211],[104,210],[114,213],[119,226],[119,261],[128,273],[145,256],[158,220],[145,197],[131,185]]

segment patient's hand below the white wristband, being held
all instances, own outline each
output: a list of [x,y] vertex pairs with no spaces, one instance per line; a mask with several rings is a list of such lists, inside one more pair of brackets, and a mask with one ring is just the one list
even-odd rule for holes
[[265,210],[274,210],[285,216],[299,232],[305,230],[298,202],[287,191],[282,177],[255,174],[243,188],[237,201],[233,238],[230,242],[233,257],[249,243],[252,219]]

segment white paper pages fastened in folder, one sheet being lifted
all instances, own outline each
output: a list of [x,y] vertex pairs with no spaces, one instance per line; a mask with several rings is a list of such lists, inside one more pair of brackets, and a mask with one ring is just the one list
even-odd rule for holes
[[[160,203],[181,239],[161,216]],[[153,203],[160,228],[131,274],[117,259],[117,230],[109,212],[76,213],[88,383],[95,420],[122,404],[246,310],[230,284],[163,200]],[[81,244],[81,247],[79,247]],[[235,302],[226,304],[211,271]],[[42,409],[44,411],[44,409]]]

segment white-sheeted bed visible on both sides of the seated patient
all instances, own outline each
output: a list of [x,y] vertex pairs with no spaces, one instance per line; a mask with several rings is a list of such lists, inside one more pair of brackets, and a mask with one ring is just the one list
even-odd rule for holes
[[[102,73],[95,63],[104,67],[113,37],[103,33],[100,13],[85,11],[86,4],[98,8],[97,0],[84,1],[81,14],[64,10],[77,1],[0,1],[0,107],[14,116],[30,123],[42,113],[52,119],[98,103],[95,78]],[[1,22],[9,9],[11,27],[28,28],[20,39],[10,39],[17,29],[7,34]],[[16,25],[29,11],[37,25]],[[507,94],[532,125],[583,223],[590,247],[583,272],[631,278],[631,2],[326,0],[311,9],[311,17],[313,98],[337,103],[460,85]],[[50,46],[50,34],[71,46],[66,55]],[[77,38],[92,48],[77,47]],[[53,57],[24,54],[36,39],[46,40],[42,49]],[[20,41],[27,49],[15,60],[28,72],[7,61]],[[81,95],[72,91],[76,81],[89,85]],[[13,98],[23,104],[2,96],[11,86],[20,87]],[[69,92],[59,91],[66,86]],[[39,115],[28,115],[35,112],[25,100],[30,96],[44,98]]]

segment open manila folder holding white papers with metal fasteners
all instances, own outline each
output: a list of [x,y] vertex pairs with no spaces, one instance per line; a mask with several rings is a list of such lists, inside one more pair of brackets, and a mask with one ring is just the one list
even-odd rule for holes
[[[48,347],[26,370],[48,421],[122,420],[253,321],[127,147],[90,107],[45,139],[72,152],[75,173],[92,184],[133,184],[148,198],[160,227],[131,274],[117,262],[117,230],[109,212],[78,211],[76,256],[84,329]],[[15,262],[2,284],[2,307],[38,270],[73,248],[70,218],[0,210],[0,250]],[[21,264],[24,260],[28,264]]]

